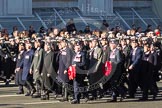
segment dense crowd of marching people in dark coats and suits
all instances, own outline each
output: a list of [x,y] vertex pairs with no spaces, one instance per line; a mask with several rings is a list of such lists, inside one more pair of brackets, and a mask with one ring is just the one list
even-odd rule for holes
[[[79,31],[73,20],[61,30],[41,27],[36,32],[30,26],[29,30],[19,31],[14,26],[9,34],[2,29],[1,79],[6,85],[14,79],[19,87],[17,94],[24,94],[25,87],[25,96],[33,98],[47,100],[52,93],[55,98],[62,94],[60,101],[68,101],[72,95],[71,104],[79,104],[81,98],[85,102],[102,98],[107,91],[112,95],[111,102],[117,102],[118,96],[120,101],[135,98],[138,87],[142,91],[141,101],[148,100],[148,95],[156,99],[162,66],[160,32],[160,26],[153,30],[148,25],[143,31],[135,24],[127,31],[119,26],[110,29],[105,20],[98,30],[86,26]],[[75,68],[73,76],[70,67]],[[108,80],[100,87],[79,90],[103,77]],[[73,87],[72,91],[68,85]]]

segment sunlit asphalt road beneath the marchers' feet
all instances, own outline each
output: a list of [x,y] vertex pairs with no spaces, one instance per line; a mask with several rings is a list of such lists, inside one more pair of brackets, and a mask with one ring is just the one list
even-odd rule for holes
[[162,108],[162,82],[158,83],[160,92],[157,100],[153,101],[150,97],[149,101],[138,101],[141,94],[137,94],[135,99],[125,99],[123,102],[110,103],[107,100],[111,97],[102,98],[96,101],[83,101],[79,105],[72,105],[69,102],[59,102],[58,99],[50,98],[50,100],[42,101],[25,97],[24,95],[16,95],[18,87],[5,87],[0,83],[0,108]]

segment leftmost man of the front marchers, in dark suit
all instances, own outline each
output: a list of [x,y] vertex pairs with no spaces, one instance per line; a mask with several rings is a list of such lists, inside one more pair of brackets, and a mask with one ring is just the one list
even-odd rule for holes
[[15,69],[15,73],[16,73],[15,83],[19,86],[19,91],[16,94],[24,94],[23,82],[22,82],[22,69],[19,70],[24,60],[24,52],[25,52],[25,45],[23,43],[20,43],[19,54],[17,57],[16,69]]

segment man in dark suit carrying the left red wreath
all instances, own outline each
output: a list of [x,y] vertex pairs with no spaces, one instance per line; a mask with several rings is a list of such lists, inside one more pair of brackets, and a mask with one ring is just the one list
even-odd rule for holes
[[[72,59],[72,65],[77,66],[79,69],[84,69],[85,65],[85,54],[81,51],[80,43],[76,43],[75,47],[75,54]],[[73,80],[73,87],[74,87],[74,99],[71,101],[71,104],[79,104],[80,103],[80,93],[79,87],[82,87],[84,83],[84,75],[76,74],[76,78]]]

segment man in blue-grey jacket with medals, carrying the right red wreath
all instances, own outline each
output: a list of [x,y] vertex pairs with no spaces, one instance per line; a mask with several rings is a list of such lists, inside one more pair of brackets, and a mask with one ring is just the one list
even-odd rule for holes
[[110,79],[110,85],[113,88],[112,89],[112,100],[111,102],[116,102],[117,101],[117,95],[120,93],[121,96],[124,95],[124,90],[120,87],[117,86],[119,83],[119,78],[122,74],[121,71],[121,63],[122,63],[122,57],[121,57],[121,52],[119,49],[117,49],[118,42],[115,39],[110,40],[110,56],[108,57],[108,60],[116,65],[115,73]]

